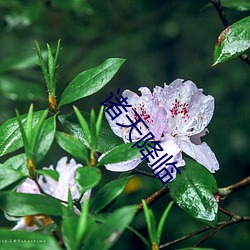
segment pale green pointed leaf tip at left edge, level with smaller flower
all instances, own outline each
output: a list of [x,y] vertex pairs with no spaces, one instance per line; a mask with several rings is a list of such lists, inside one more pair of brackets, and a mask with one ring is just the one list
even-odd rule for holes
[[26,176],[20,171],[12,169],[6,165],[0,164],[0,190],[13,184],[16,181],[21,181]]

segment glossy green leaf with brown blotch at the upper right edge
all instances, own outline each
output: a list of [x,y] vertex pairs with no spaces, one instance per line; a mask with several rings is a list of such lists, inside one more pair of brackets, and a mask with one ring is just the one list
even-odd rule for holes
[[239,56],[250,47],[250,16],[228,26],[215,45],[214,65]]

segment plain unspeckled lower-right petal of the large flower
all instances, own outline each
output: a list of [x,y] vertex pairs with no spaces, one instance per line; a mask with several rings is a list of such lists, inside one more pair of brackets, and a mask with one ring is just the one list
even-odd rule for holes
[[179,140],[178,142],[183,152],[206,167],[211,173],[219,169],[215,154],[205,142],[201,145],[195,145],[190,140]]

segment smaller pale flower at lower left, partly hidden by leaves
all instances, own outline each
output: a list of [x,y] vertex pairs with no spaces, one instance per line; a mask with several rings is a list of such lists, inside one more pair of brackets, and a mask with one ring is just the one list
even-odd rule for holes
[[[38,183],[43,191],[51,195],[57,199],[62,201],[68,200],[68,190],[70,190],[72,199],[78,199],[80,197],[80,193],[77,189],[76,182],[74,180],[75,171],[78,167],[81,167],[80,164],[76,164],[74,159],[71,159],[67,162],[67,157],[61,158],[56,168],[54,169],[53,166],[49,168],[43,169],[50,169],[56,170],[59,174],[58,180],[54,180],[47,176],[40,176],[38,178]],[[30,193],[30,194],[41,194],[36,183],[27,178],[16,190],[20,193]],[[90,196],[90,190],[86,191],[81,198],[80,202],[83,202]],[[78,211],[75,210],[76,213]],[[34,223],[35,222],[35,223]],[[47,225],[52,223],[53,221],[49,217],[45,216],[25,216],[22,217],[17,225],[12,230],[26,230],[26,231],[34,231],[38,229],[39,226]]]

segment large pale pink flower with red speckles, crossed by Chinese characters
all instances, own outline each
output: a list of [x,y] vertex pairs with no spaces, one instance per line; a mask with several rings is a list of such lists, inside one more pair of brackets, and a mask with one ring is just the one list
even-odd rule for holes
[[[134,111],[146,123],[146,128],[142,122],[138,123],[141,135],[136,129],[130,131],[129,127],[118,124],[128,124],[125,114],[118,116],[115,120],[105,113],[111,129],[114,133],[122,137],[125,143],[129,142],[129,134],[133,142],[140,140],[149,131],[155,136],[156,141],[161,141],[164,148],[160,156],[168,153],[173,155],[173,160],[177,161],[176,166],[184,166],[182,151],[191,158],[205,166],[214,173],[219,169],[218,161],[205,143],[201,142],[201,137],[207,131],[214,112],[214,98],[204,95],[202,89],[198,89],[192,81],[177,79],[170,85],[163,88],[156,86],[153,93],[146,87],[139,88],[141,96],[130,90],[125,90],[123,98],[127,97],[127,102],[132,105],[127,108],[127,115],[135,122],[138,120]],[[101,156],[102,157],[102,156]],[[135,168],[141,158],[136,158],[117,164],[107,164],[106,168],[111,171],[128,171]],[[149,166],[152,160],[149,162]],[[175,178],[176,171],[173,173]]]

